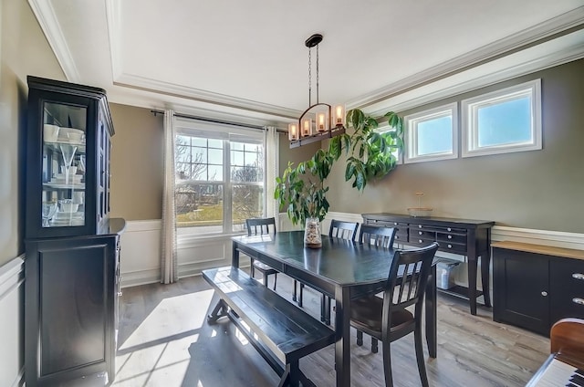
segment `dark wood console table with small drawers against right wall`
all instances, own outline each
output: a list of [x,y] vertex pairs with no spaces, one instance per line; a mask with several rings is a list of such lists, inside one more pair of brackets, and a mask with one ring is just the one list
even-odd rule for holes
[[[434,241],[439,251],[466,256],[468,259],[468,288],[456,286],[443,293],[470,300],[471,314],[476,314],[476,298],[483,296],[485,306],[491,307],[489,267],[491,264],[491,227],[495,222],[443,217],[412,217],[407,214],[362,214],[363,223],[386,225],[396,229],[395,242],[409,246],[428,246]],[[483,291],[476,290],[478,257],[481,257]]]

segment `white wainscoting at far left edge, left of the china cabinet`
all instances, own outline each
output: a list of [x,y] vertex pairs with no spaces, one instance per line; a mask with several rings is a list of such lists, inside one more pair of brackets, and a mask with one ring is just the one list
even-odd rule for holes
[[18,387],[24,378],[25,266],[18,256],[0,267],[0,386]]

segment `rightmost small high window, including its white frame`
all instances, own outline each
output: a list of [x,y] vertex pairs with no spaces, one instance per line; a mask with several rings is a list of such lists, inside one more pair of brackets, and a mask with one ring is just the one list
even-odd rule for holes
[[462,101],[463,157],[541,149],[541,79]]

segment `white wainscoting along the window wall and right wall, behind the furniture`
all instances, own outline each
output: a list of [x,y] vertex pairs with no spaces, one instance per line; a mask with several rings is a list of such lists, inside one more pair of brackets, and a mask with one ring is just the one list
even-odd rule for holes
[[[349,222],[363,222],[360,214],[329,212],[322,222],[322,230],[327,232],[331,219]],[[301,225],[292,225],[287,214],[278,214],[277,229],[280,231],[299,230]],[[493,241],[516,241],[537,245],[558,246],[584,250],[584,235],[557,231],[532,230],[495,225],[492,232]],[[129,221],[126,231],[121,236],[121,276],[122,288],[160,281],[160,240],[161,221]],[[449,257],[464,262],[464,256],[440,252],[439,256]],[[231,262],[230,235],[195,236],[181,240],[178,248],[179,277],[197,275],[207,267],[228,265]],[[242,266],[247,262],[242,261]],[[480,288],[480,277],[479,288]],[[458,285],[466,284],[466,269],[459,265],[454,273]]]

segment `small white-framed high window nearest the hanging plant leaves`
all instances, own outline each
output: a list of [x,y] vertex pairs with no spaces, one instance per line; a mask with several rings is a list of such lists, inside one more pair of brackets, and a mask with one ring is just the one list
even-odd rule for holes
[[456,103],[405,116],[403,120],[405,163],[458,156]]

